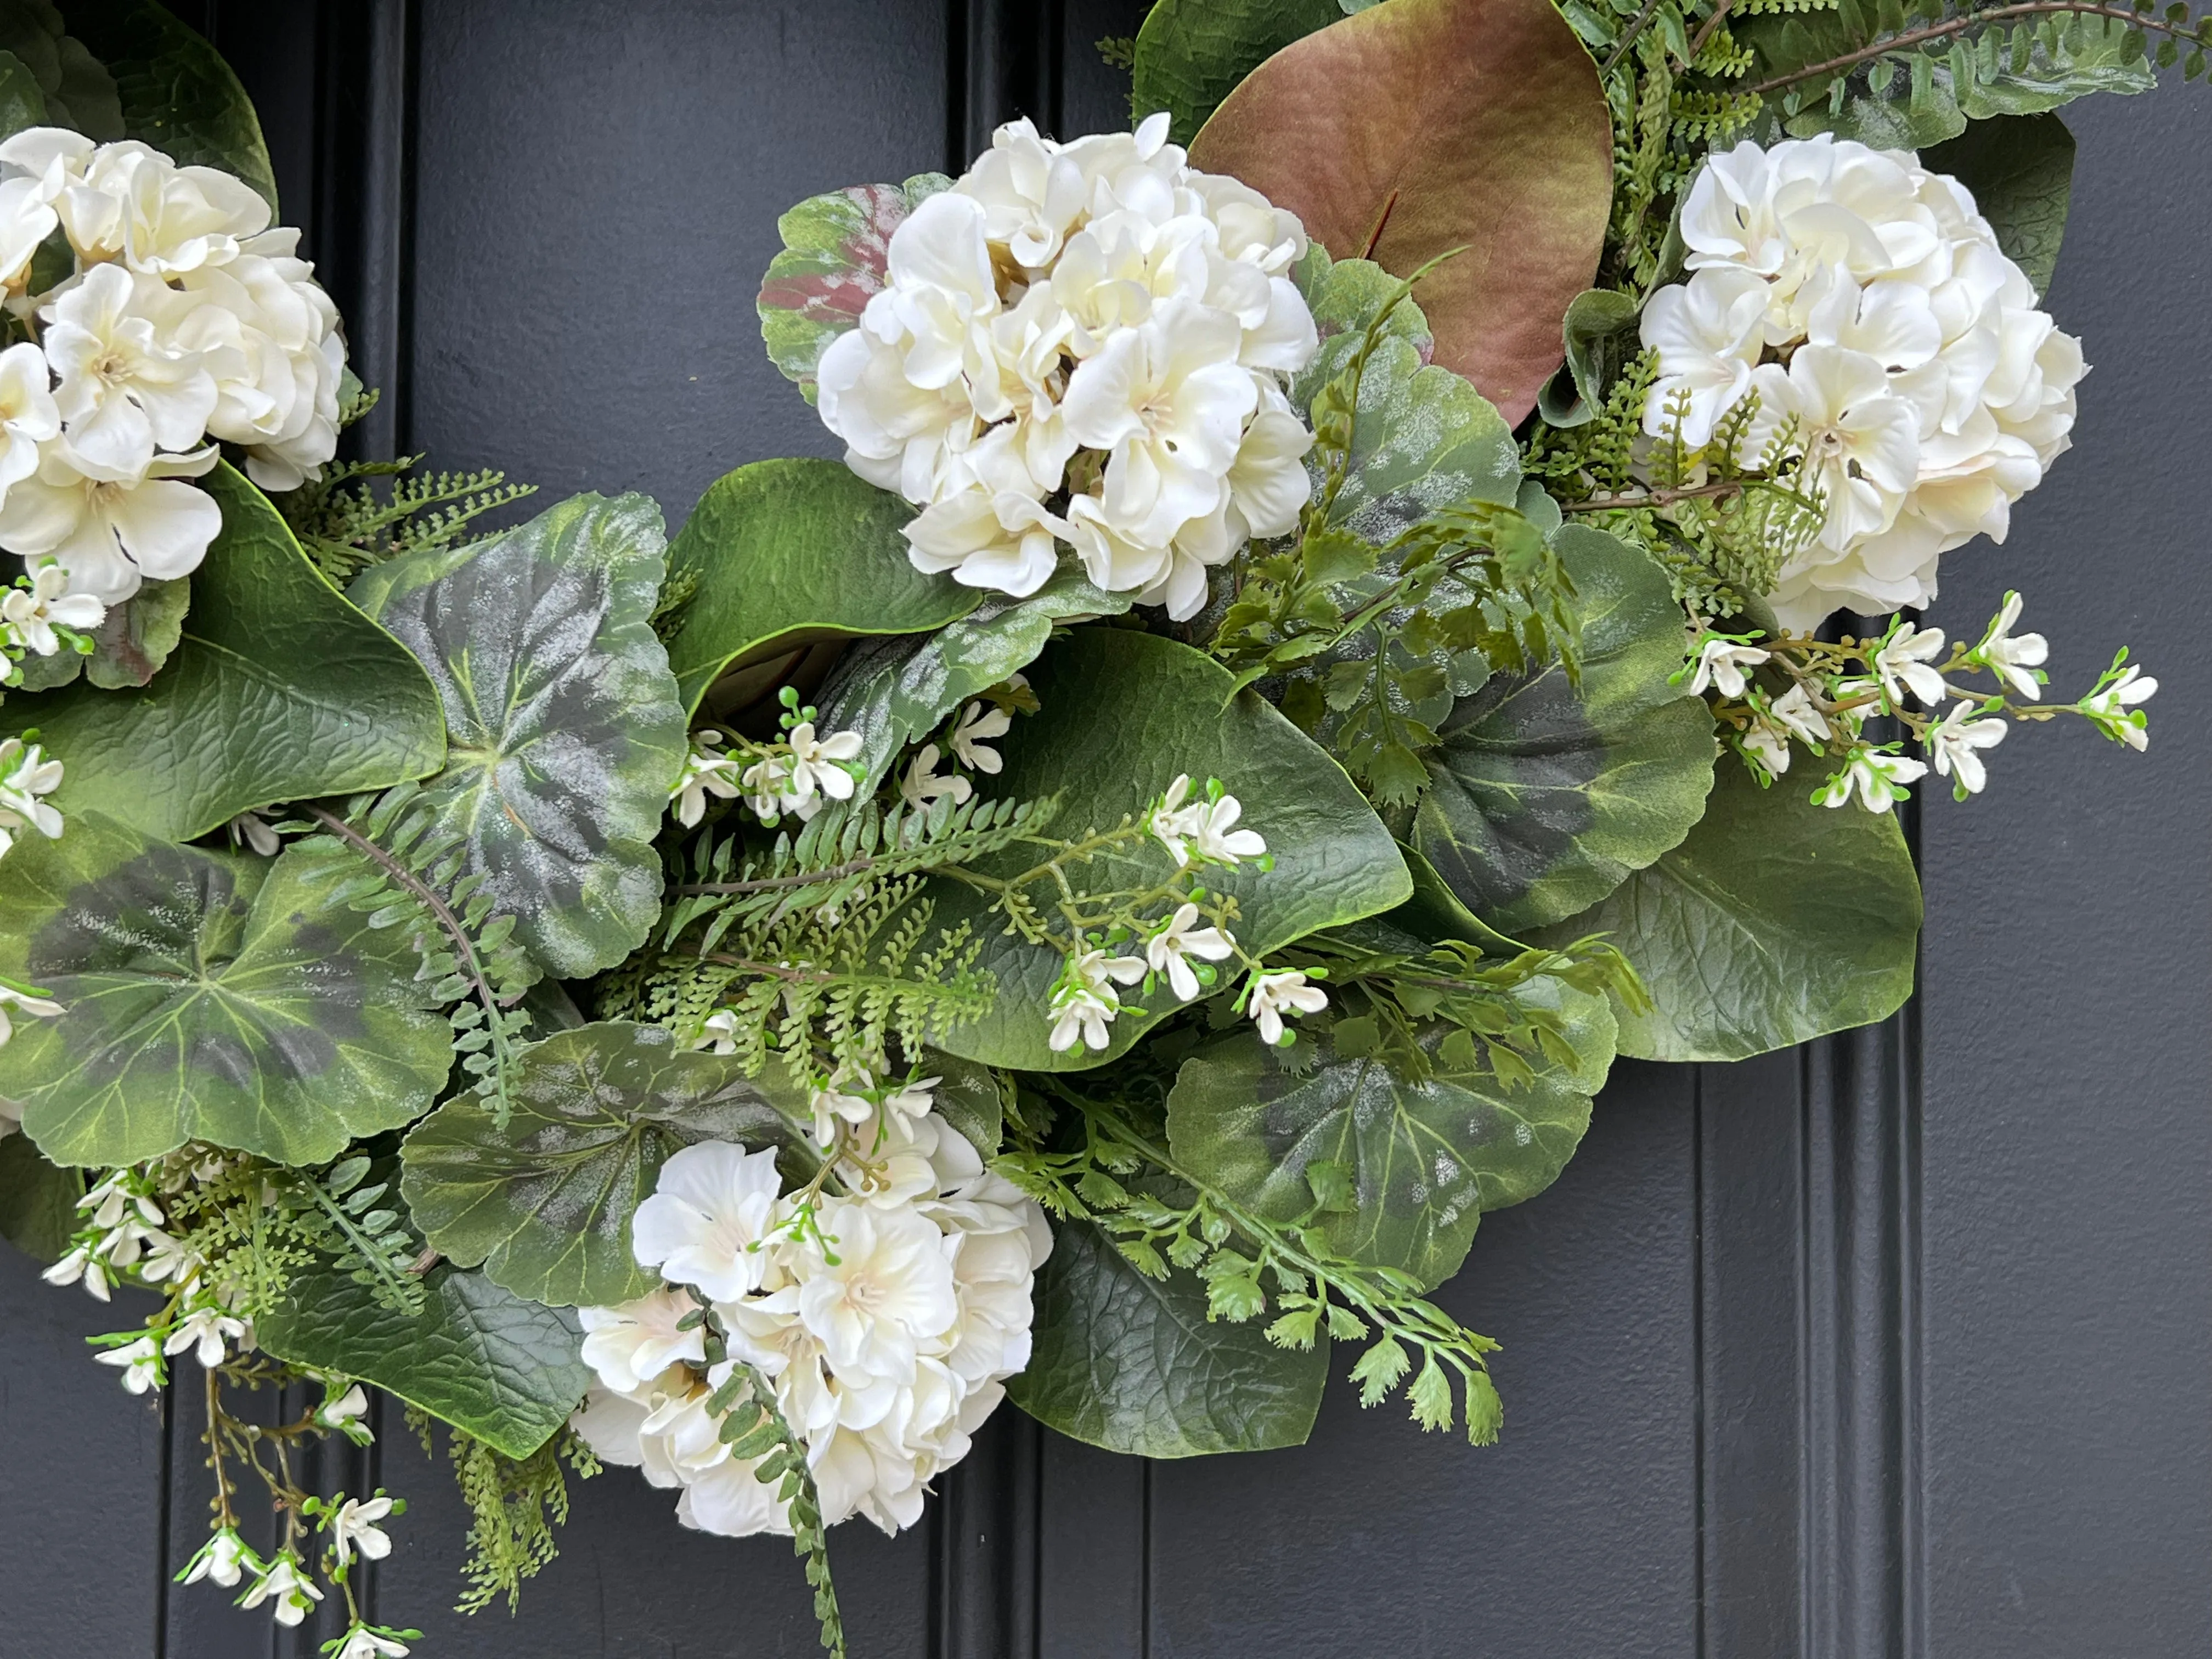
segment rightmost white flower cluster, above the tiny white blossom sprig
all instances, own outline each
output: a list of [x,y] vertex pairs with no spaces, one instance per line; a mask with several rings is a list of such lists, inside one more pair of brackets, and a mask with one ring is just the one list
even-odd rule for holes
[[1785,422],[1827,522],[1783,566],[1774,611],[1936,597],[1936,562],[2004,540],[2011,504],[2070,445],[2081,343],[2035,305],[1958,179],[1905,150],[1818,135],[1712,155],[1681,210],[1690,279],[1652,294],[1646,431],[1703,445],[1747,394],[1756,462]]

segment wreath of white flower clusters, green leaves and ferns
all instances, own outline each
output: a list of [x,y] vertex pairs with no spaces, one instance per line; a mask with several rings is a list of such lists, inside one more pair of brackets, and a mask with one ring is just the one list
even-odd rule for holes
[[2070,440],[2048,111],[2197,77],[2188,18],[1159,0],[1133,131],[783,217],[845,458],[664,542],[338,460],[237,80],[31,11],[0,1230],[157,1296],[93,1345],[206,1389],[177,1577],[338,1659],[418,1639],[356,1595],[405,1502],[290,1458],[367,1389],[447,1438],[465,1608],[624,1464],[787,1533],[836,1652],[827,1528],[1006,1398],[1285,1447],[1340,1345],[1495,1440],[1429,1294],[1613,1057],[1887,1018],[1909,787],[2146,745],[2126,650],[2062,703],[2017,593],[1916,613]]

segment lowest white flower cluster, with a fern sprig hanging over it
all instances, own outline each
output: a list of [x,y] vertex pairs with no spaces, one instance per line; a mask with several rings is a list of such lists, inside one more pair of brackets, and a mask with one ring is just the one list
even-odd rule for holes
[[[849,1082],[849,1091],[858,1091]],[[708,1533],[787,1533],[754,1464],[719,1440],[708,1400],[732,1365],[776,1394],[823,1522],[867,1515],[911,1526],[927,1482],[967,1455],[969,1436],[1029,1363],[1031,1276],[1051,1252],[1044,1212],[989,1175],[929,1106],[922,1084],[883,1093],[854,1126],[847,1088],[816,1102],[838,1141],[847,1197],[799,1214],[772,1150],[688,1146],[661,1166],[633,1219],[637,1259],[666,1285],[622,1307],[577,1310],[599,1387],[575,1429],[606,1462],[677,1486],[677,1520]],[[712,1305],[728,1356],[684,1318]]]

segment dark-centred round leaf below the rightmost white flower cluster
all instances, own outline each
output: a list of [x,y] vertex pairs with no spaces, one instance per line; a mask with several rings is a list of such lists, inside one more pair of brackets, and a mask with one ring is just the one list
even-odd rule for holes
[[1553,546],[1579,595],[1582,686],[1546,664],[1460,699],[1413,818],[1413,845],[1506,933],[1604,898],[1690,832],[1712,787],[1712,717],[1668,686],[1683,633],[1666,573],[1584,524]]

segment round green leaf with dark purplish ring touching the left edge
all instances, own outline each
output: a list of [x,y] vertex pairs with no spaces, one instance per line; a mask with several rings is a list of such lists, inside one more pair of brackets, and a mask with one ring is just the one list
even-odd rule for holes
[[0,1095],[46,1157],[197,1139],[319,1164],[429,1110],[451,1031],[411,929],[332,902],[330,860],[354,854],[201,852],[97,814],[0,860],[0,973],[62,1004],[0,1048]]

